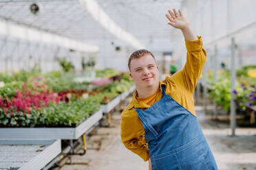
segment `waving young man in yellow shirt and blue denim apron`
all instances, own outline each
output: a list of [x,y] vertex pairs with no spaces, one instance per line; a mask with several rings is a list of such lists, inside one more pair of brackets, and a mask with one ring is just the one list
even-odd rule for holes
[[149,169],[217,169],[193,103],[193,91],[206,60],[202,38],[195,36],[180,10],[168,12],[168,24],[184,35],[186,64],[160,81],[151,52],[141,49],[131,54],[128,66],[136,91],[122,112],[122,143],[149,160]]

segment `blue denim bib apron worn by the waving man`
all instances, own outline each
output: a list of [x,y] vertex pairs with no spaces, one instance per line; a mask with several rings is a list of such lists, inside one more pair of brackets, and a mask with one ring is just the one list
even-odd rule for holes
[[145,130],[152,170],[217,169],[197,117],[165,94],[164,85],[162,99],[136,112]]

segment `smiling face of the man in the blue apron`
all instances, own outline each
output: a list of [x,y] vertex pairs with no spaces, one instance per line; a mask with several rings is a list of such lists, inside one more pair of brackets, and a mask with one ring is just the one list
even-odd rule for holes
[[131,60],[130,70],[136,88],[150,88],[159,84],[158,66],[150,54]]

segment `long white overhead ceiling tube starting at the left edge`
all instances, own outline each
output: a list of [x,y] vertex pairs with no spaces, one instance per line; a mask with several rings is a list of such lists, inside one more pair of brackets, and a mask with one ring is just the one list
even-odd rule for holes
[[3,36],[11,36],[31,42],[42,42],[45,44],[57,45],[67,49],[74,49],[83,52],[98,52],[96,45],[85,44],[72,38],[58,36],[49,32],[43,32],[38,29],[16,25],[8,21],[0,21],[0,34]]

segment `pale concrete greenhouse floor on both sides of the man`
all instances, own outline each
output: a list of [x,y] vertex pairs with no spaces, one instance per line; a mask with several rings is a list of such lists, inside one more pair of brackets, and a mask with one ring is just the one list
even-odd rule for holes
[[[231,137],[228,123],[213,121],[201,106],[195,107],[200,125],[213,151],[219,169],[256,169],[256,129],[237,128]],[[120,112],[112,114],[111,127],[99,127],[87,139],[89,149],[84,156],[72,156],[72,165],[61,170],[131,170],[148,169],[136,154],[126,149],[120,139]],[[55,169],[54,169],[55,170]]]

